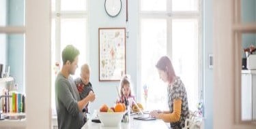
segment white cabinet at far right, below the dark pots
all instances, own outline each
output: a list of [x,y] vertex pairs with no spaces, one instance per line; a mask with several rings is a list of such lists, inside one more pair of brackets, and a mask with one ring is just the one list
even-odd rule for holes
[[256,119],[256,70],[242,71],[242,120]]

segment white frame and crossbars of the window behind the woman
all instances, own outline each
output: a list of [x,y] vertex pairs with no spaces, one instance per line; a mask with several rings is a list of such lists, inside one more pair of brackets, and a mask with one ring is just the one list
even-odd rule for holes
[[[171,12],[171,1],[167,0],[167,11],[166,12],[145,12],[141,11],[141,0],[139,0],[139,43],[137,44],[137,53],[141,53],[141,19],[143,18],[162,18],[167,20],[167,56],[172,58],[171,50],[172,50],[172,39],[171,39],[171,20],[175,18],[197,18],[199,21],[199,35],[198,35],[198,41],[199,41],[199,75],[198,75],[198,82],[199,82],[199,88],[198,88],[198,100],[204,99],[204,91],[203,91],[203,1],[199,0],[198,5],[198,12]],[[142,100],[141,98],[141,56],[137,57],[138,60],[138,73],[137,73],[137,98],[138,100]]]

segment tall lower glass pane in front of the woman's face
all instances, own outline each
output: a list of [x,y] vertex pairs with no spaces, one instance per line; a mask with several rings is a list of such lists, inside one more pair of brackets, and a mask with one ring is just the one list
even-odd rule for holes
[[[147,86],[147,110],[167,109],[167,84],[158,76],[155,67],[160,56],[167,55],[167,20],[141,20],[141,98]],[[142,99],[143,105],[145,100]]]

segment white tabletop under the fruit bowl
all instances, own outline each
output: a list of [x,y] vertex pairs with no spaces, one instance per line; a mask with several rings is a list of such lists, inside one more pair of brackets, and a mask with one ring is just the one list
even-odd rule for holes
[[133,119],[134,116],[130,117],[130,122],[122,122],[117,127],[104,127],[100,123],[91,122],[91,119],[82,127],[82,129],[168,129],[168,126],[161,119],[152,121],[142,121]]

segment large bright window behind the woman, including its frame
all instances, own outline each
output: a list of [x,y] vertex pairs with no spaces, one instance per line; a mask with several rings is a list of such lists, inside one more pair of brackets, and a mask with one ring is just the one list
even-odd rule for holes
[[147,110],[168,109],[167,84],[155,67],[167,55],[186,87],[189,108],[195,111],[202,99],[200,0],[141,0],[140,5],[141,98],[148,88],[142,103]]

